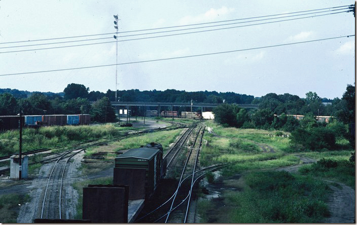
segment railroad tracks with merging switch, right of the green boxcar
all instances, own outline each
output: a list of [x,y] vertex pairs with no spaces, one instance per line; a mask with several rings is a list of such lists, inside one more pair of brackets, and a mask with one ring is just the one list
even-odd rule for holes
[[[144,216],[141,216],[135,222],[144,221],[144,218],[146,218],[146,222],[194,222],[192,219],[193,216],[190,216],[192,211],[190,211],[190,200],[195,183],[200,180],[207,172],[217,170],[224,166],[224,164],[218,164],[197,169],[199,167],[198,157],[202,144],[203,134],[204,127],[191,127],[186,130],[180,139],[177,140],[176,143],[167,152],[164,157],[164,159],[167,160],[166,177],[175,176],[173,172],[174,170],[179,169],[182,171],[177,188],[172,196],[169,197],[164,203],[149,213],[146,213]],[[188,142],[190,143],[188,144]],[[184,145],[185,143],[186,145]],[[185,153],[184,148],[188,146],[190,149],[187,153]],[[185,159],[180,160],[180,157],[177,157],[182,155],[187,156],[186,161]],[[153,216],[154,212],[155,215]],[[157,215],[161,216],[157,218]],[[150,216],[150,218],[148,216]]]

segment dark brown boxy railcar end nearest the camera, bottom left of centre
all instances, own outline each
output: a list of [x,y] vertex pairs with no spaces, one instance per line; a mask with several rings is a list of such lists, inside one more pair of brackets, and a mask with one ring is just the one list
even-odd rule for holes
[[129,187],[88,185],[83,187],[83,219],[94,223],[128,222]]

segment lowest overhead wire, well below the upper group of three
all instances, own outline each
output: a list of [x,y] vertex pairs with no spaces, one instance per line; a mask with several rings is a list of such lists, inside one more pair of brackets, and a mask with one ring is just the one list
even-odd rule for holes
[[239,50],[232,50],[232,51],[225,51],[225,52],[205,53],[205,54],[199,54],[199,55],[189,55],[189,56],[163,58],[163,59],[152,59],[152,60],[144,60],[144,61],[136,61],[136,62],[124,62],[124,63],[109,64],[109,65],[96,65],[96,66],[85,66],[85,67],[77,67],[77,68],[53,69],[53,70],[42,70],[42,71],[21,72],[21,73],[8,73],[8,74],[0,74],[0,76],[13,76],[13,75],[22,75],[22,74],[31,74],[31,73],[56,72],[56,71],[65,71],[65,70],[74,70],[74,69],[88,69],[88,68],[107,67],[107,66],[115,66],[115,65],[127,65],[127,64],[135,64],[135,63],[144,63],[144,62],[156,62],[156,61],[164,61],[164,60],[172,60],[172,59],[183,59],[183,58],[191,58],[191,57],[199,57],[199,56],[225,54],[225,53],[232,53],[232,52],[242,52],[242,51],[248,51],[248,50],[274,48],[274,47],[311,43],[311,42],[320,42],[320,41],[327,41],[327,40],[333,40],[333,39],[341,39],[343,37],[350,37],[350,36],[355,36],[355,35],[352,34],[352,35],[346,35],[346,36],[328,37],[326,39],[318,39],[318,40],[311,40],[311,41],[305,41],[305,42],[295,42],[295,43],[271,45],[271,46],[256,47],[256,48],[239,49]]

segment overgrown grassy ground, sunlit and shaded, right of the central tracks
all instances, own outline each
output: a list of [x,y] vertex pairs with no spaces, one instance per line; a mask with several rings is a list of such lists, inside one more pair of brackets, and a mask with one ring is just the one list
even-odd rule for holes
[[[232,163],[223,170],[223,175],[241,173],[237,187],[242,191],[224,191],[221,195],[224,207],[216,201],[200,200],[201,222],[319,222],[329,215],[325,202],[330,191],[316,176],[354,184],[354,164],[352,168],[347,161],[350,151],[291,154],[294,149],[289,138],[274,136],[276,131],[223,128],[212,121],[206,125],[213,128],[213,133],[207,132],[204,137],[201,163]],[[253,172],[299,164],[296,155],[333,160],[303,166],[301,173],[293,175],[278,171]],[[212,214],[213,211],[216,213]],[[218,216],[212,220],[215,214]]]

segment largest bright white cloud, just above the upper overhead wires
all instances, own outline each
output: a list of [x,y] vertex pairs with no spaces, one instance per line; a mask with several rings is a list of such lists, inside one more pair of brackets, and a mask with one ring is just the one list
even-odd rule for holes
[[222,17],[224,15],[232,13],[232,12],[234,12],[234,8],[227,8],[225,6],[223,6],[221,9],[211,8],[207,12],[197,15],[197,16],[185,16],[180,19],[179,24],[186,25],[186,24],[191,24],[191,23],[201,23],[201,22],[212,21],[219,17]]

